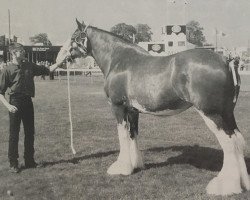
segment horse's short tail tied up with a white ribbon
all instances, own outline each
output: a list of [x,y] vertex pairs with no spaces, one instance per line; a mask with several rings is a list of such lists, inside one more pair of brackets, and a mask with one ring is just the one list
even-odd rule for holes
[[237,60],[231,60],[227,62],[228,68],[232,73],[232,77],[233,77],[233,83],[234,83],[234,99],[233,102],[236,103],[238,96],[239,96],[239,92],[240,92],[240,84],[241,84],[241,80],[240,80],[240,75],[239,75],[239,71],[238,71],[238,63]]

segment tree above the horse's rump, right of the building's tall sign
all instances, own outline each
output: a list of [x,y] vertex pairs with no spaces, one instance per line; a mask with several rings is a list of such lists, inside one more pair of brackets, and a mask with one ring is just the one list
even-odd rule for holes
[[203,35],[203,27],[197,21],[190,21],[187,23],[187,41],[197,46],[203,46],[206,38]]

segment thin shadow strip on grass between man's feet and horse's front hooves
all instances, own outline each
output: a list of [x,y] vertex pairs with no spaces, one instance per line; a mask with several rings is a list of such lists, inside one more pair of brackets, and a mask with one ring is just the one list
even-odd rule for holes
[[78,164],[82,160],[107,157],[116,153],[118,153],[118,151],[98,152],[98,153],[84,155],[84,156],[78,156],[78,157],[75,156],[74,158],[71,158],[71,159],[62,159],[62,160],[52,161],[52,162],[42,162],[41,167],[47,167],[47,166],[52,166],[52,165],[57,165],[57,164],[62,164],[62,163]]

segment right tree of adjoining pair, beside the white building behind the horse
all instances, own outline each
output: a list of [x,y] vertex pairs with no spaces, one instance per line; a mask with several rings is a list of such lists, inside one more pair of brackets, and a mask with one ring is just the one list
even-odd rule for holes
[[151,28],[147,24],[137,24],[135,29],[135,43],[150,42],[152,40],[153,33],[150,31]]

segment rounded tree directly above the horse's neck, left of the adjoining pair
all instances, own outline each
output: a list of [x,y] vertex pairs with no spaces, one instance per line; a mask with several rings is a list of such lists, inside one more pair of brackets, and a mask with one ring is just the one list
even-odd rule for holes
[[135,28],[132,25],[127,25],[125,23],[113,26],[110,31],[130,42],[133,42],[133,37],[136,34]]

